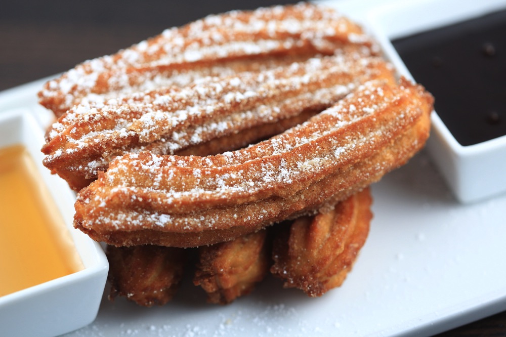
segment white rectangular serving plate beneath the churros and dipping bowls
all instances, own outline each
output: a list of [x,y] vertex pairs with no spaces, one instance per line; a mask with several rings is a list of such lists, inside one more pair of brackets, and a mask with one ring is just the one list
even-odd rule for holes
[[[329,2],[366,26],[366,12],[391,3]],[[0,94],[0,111],[44,115],[43,82]],[[110,302],[106,288],[97,319],[68,336],[428,336],[506,310],[506,195],[461,204],[426,151],[372,194],[367,242],[343,286],[321,298],[273,277],[227,306],[206,304],[190,277],[163,307]]]

